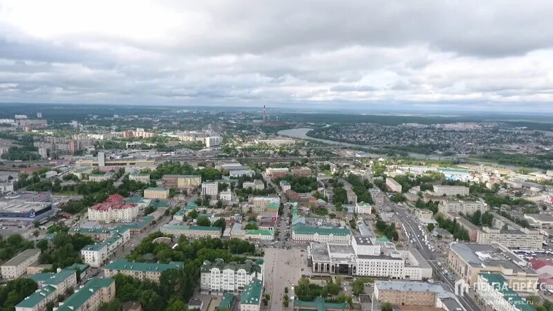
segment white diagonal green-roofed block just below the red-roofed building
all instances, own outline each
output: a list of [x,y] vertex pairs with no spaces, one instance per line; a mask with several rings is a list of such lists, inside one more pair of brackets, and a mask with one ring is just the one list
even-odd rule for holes
[[81,249],[82,262],[91,267],[100,267],[130,240],[131,229],[129,227],[113,230],[113,234],[106,241],[86,245]]

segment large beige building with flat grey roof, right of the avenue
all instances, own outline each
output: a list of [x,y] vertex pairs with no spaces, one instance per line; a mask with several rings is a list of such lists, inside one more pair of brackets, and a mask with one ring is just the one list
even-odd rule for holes
[[536,271],[504,245],[455,243],[449,249],[447,263],[468,284],[477,282],[482,272],[493,272],[503,276],[509,284],[527,284],[529,292],[537,288]]

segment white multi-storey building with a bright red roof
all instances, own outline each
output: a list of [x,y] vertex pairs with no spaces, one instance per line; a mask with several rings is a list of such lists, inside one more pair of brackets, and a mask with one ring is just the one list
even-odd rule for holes
[[105,202],[88,207],[88,219],[100,223],[131,223],[138,217],[138,205],[126,203],[119,194],[109,196]]

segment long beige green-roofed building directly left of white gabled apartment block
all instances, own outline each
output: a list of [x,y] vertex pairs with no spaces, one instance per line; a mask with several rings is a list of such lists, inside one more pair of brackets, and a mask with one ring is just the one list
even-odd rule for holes
[[162,272],[170,269],[181,269],[182,264],[182,262],[176,261],[170,263],[135,263],[126,259],[118,259],[104,267],[104,276],[111,278],[120,273],[142,281],[159,283]]

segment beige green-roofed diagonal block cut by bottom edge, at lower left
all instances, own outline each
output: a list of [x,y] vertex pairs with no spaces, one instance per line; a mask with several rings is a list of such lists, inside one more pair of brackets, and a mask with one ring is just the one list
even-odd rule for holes
[[115,280],[90,279],[68,297],[56,311],[97,311],[102,303],[115,299]]

